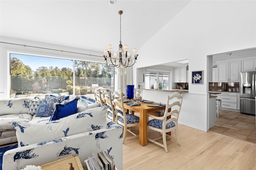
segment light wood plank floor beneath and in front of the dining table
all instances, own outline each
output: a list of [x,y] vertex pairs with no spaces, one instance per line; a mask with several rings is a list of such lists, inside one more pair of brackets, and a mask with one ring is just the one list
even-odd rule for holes
[[[138,134],[138,127],[132,131]],[[138,138],[126,139],[123,144],[124,170],[255,170],[256,147],[214,133],[179,125],[182,146],[174,139],[164,148],[148,142],[142,147]],[[128,133],[128,135],[130,135]],[[160,135],[149,130],[148,135]],[[175,138],[175,133],[172,133]]]

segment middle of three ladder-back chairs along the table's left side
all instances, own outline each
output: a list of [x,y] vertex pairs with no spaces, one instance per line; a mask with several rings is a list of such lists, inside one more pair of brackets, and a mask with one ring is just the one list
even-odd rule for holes
[[107,117],[112,121],[116,122],[116,112],[114,109],[113,99],[112,99],[112,89],[111,88],[104,88],[103,92],[103,99],[106,103],[107,107]]

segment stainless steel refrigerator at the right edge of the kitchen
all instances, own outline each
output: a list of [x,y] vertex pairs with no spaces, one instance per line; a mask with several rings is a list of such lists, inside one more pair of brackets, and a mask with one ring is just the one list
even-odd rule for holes
[[240,72],[240,112],[255,115],[255,73]]

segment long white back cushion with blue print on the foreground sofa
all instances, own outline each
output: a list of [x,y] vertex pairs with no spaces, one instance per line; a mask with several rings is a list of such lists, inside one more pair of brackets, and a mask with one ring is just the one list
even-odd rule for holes
[[18,145],[31,145],[51,139],[106,128],[107,106],[95,107],[81,113],[47,122],[13,122]]

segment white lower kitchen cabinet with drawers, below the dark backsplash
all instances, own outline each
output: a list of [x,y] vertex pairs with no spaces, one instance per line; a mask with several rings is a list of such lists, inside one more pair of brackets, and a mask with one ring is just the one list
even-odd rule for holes
[[237,93],[222,92],[217,95],[217,99],[221,100],[222,108],[237,109]]

